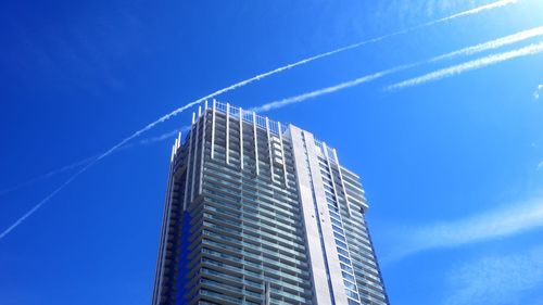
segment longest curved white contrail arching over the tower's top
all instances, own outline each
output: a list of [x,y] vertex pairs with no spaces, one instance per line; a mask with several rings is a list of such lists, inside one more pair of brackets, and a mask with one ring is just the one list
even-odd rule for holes
[[[15,229],[18,225],[21,225],[21,223],[23,223],[27,217],[29,217],[31,214],[34,214],[39,207],[41,207],[43,204],[46,204],[49,200],[51,200],[54,195],[56,195],[60,191],[62,191],[66,186],[68,186],[72,181],[74,181],[79,175],[81,175],[83,173],[85,173],[88,168],[90,168],[91,166],[93,166],[96,163],[98,163],[99,161],[101,161],[102,158],[109,156],[110,154],[112,154],[114,151],[118,150],[119,148],[122,148],[123,145],[125,145],[127,142],[131,141],[132,139],[139,137],[141,134],[152,129],[153,127],[155,127],[156,125],[163,123],[163,122],[166,122],[168,120],[169,118],[178,115],[179,113],[186,111],[187,109],[193,106],[193,105],[197,105],[199,103],[202,103],[203,101],[205,100],[209,100],[209,99],[212,99],[212,98],[215,98],[219,94],[223,94],[223,93],[226,93],[228,91],[231,91],[231,90],[235,90],[237,88],[240,88],[240,87],[243,87],[245,85],[249,85],[251,82],[254,82],[254,81],[257,81],[257,80],[261,80],[265,77],[268,77],[268,76],[272,76],[272,75],[275,75],[277,73],[280,73],[280,72],[283,72],[283,71],[287,71],[287,69],[290,69],[290,68],[293,68],[295,66],[300,66],[300,65],[304,65],[304,64],[307,64],[310,62],[313,62],[313,61],[316,61],[318,59],[323,59],[323,58],[327,58],[327,56],[330,56],[332,54],[337,54],[337,53],[340,53],[340,52],[343,52],[343,51],[346,51],[346,50],[351,50],[351,49],[355,49],[355,48],[358,48],[358,47],[362,47],[362,46],[365,46],[365,45],[368,45],[368,43],[374,43],[374,42],[378,42],[378,41],[381,41],[381,40],[384,40],[384,39],[388,39],[388,38],[391,38],[391,37],[394,37],[394,36],[399,36],[399,35],[403,35],[403,34],[406,34],[406,33],[409,33],[409,31],[413,31],[415,29],[419,29],[419,28],[422,28],[422,27],[426,27],[426,26],[430,26],[430,25],[434,25],[434,24],[438,24],[438,23],[443,23],[443,22],[447,22],[447,21],[451,21],[451,20],[454,20],[454,18],[458,18],[458,17],[462,17],[462,16],[467,16],[467,15],[472,15],[472,14],[478,14],[480,12],[483,12],[483,11],[487,11],[487,10],[492,10],[492,9],[497,9],[497,8],[502,8],[502,7],[505,7],[505,5],[509,5],[509,4],[514,4],[514,3],[517,3],[518,0],[500,0],[500,1],[495,1],[495,2],[492,2],[490,4],[485,4],[485,5],[481,5],[481,7],[478,7],[478,8],[475,8],[475,9],[471,9],[471,10],[468,10],[468,11],[464,11],[464,12],[460,12],[460,13],[456,13],[456,14],[453,14],[451,16],[447,16],[447,17],[443,17],[443,18],[440,18],[440,20],[435,20],[435,21],[431,21],[431,22],[428,22],[428,23],[425,23],[425,24],[420,24],[420,25],[417,25],[417,26],[413,26],[413,27],[409,27],[409,28],[406,28],[406,29],[403,29],[403,30],[399,30],[399,31],[395,31],[395,33],[392,33],[392,34],[388,34],[388,35],[383,35],[383,36],[380,36],[380,37],[376,37],[376,38],[372,38],[372,39],[368,39],[368,40],[364,40],[364,41],[361,41],[361,42],[357,42],[357,43],[353,43],[353,45],[350,45],[350,46],[346,46],[346,47],[342,47],[342,48],[339,48],[339,49],[336,49],[336,50],[332,50],[332,51],[329,51],[329,52],[325,52],[325,53],[320,53],[320,54],[317,54],[317,55],[314,55],[314,56],[311,56],[311,58],[306,58],[306,59],[303,59],[301,61],[298,61],[298,62],[294,62],[294,63],[291,63],[291,64],[288,64],[288,65],[285,65],[285,66],[281,66],[281,67],[278,67],[276,69],[273,69],[273,71],[269,71],[269,72],[266,72],[266,73],[263,73],[263,74],[260,74],[260,75],[256,75],[254,77],[251,77],[251,78],[248,78],[245,80],[242,80],[242,81],[239,81],[237,84],[233,84],[229,87],[226,87],[226,88],[223,88],[223,89],[219,89],[213,93],[210,93],[203,98],[200,98],[195,101],[192,101],[181,107],[178,107],[174,111],[172,111],[171,113],[160,117],[159,119],[148,124],[147,126],[144,126],[143,128],[139,129],[138,131],[134,132],[131,136],[125,138],[124,140],[122,140],[121,142],[118,142],[117,144],[113,145],[111,149],[109,149],[108,151],[105,151],[104,153],[100,154],[99,156],[97,156],[96,158],[93,158],[91,162],[89,162],[85,167],[83,167],[80,170],[78,170],[76,174],[74,174],[73,176],[71,176],[64,183],[62,183],[58,189],[55,189],[52,193],[50,193],[48,196],[46,196],[42,201],[40,201],[36,206],[34,206],[30,211],[28,211],[25,215],[23,215],[20,219],[17,219],[12,226],[10,226],[5,231],[3,231],[1,234],[0,234],[0,240],[2,238],[4,238],[8,233],[10,233],[13,229]],[[382,73],[387,73],[387,72],[382,72]],[[389,72],[390,74],[391,72]],[[380,77],[380,76],[378,76]],[[374,77],[372,79],[375,79],[377,77]],[[362,81],[362,80],[361,80]],[[367,81],[367,80],[366,80]]]

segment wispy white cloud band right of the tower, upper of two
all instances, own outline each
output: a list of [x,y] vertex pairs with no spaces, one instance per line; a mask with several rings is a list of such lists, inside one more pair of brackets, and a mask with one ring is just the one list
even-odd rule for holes
[[431,249],[455,247],[465,244],[505,238],[543,227],[543,198],[509,204],[466,218],[406,229],[397,250],[389,259],[399,259]]

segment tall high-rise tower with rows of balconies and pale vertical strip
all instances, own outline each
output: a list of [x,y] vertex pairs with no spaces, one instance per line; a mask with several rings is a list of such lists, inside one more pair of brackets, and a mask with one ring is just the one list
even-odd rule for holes
[[206,103],[172,150],[152,303],[389,304],[367,208],[311,132]]

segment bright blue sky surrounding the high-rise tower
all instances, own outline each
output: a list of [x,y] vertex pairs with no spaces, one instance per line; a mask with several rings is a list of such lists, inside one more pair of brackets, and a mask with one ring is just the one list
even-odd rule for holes
[[[372,2],[4,3],[0,231],[81,165],[42,175],[190,101],[493,1]],[[543,304],[543,36],[428,62],[541,26],[541,1],[519,0],[218,99],[255,107],[420,63],[266,114],[361,174],[392,304]],[[173,142],[163,136],[189,122],[180,113],[104,157],[1,238],[0,303],[149,304]]]

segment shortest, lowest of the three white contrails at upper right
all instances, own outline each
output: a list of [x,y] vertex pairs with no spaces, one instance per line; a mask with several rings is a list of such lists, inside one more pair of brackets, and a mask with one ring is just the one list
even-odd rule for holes
[[543,52],[543,42],[540,42],[536,45],[530,45],[528,47],[523,47],[523,48],[508,51],[508,52],[488,55],[488,56],[480,58],[480,59],[469,61],[469,62],[465,62],[465,63],[462,63],[458,65],[438,69],[438,71],[425,74],[425,75],[419,76],[419,77],[411,78],[411,79],[391,85],[391,86],[387,87],[386,90],[394,90],[394,89],[402,89],[402,88],[406,88],[406,87],[417,86],[417,85],[421,85],[421,84],[425,84],[428,81],[438,80],[441,78],[458,75],[458,74],[467,72],[467,71],[481,68],[481,67],[484,67],[488,65],[497,64],[497,63],[505,62],[505,61],[520,58],[520,56],[534,55],[534,54],[538,54],[541,52]]

